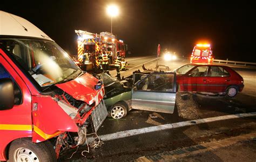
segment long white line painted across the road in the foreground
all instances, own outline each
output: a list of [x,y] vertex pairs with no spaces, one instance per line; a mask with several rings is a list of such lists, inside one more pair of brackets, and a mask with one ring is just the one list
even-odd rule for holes
[[[205,118],[205,119],[188,120],[185,122],[151,126],[151,127],[145,127],[142,129],[134,129],[134,130],[116,132],[116,133],[112,133],[112,134],[105,134],[105,135],[99,136],[99,138],[103,141],[107,141],[107,140],[130,137],[130,136],[136,136],[136,135],[144,134],[144,133],[176,129],[178,127],[197,125],[197,124],[202,124],[202,123],[217,122],[220,120],[227,120],[227,119],[253,117],[253,116],[256,116],[256,112],[238,113],[238,114],[231,114],[231,115],[219,116],[219,117],[211,117],[211,118]],[[92,141],[92,140],[93,140],[92,138],[88,138],[88,141]]]

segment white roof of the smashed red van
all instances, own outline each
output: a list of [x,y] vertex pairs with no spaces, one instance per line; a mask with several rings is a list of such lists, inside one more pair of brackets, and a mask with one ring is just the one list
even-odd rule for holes
[[23,36],[52,40],[26,19],[0,10],[0,36]]

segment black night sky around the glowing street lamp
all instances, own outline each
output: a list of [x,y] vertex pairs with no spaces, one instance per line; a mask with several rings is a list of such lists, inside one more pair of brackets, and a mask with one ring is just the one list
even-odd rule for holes
[[199,42],[211,43],[215,59],[256,62],[253,1],[3,1],[0,10],[21,16],[76,55],[75,30],[111,31],[108,4],[119,6],[113,34],[133,56],[167,48],[189,57]]

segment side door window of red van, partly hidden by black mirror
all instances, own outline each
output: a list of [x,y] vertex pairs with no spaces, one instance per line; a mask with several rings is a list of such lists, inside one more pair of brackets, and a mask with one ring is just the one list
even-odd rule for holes
[[19,88],[18,84],[15,82],[14,78],[10,75],[10,73],[4,68],[2,64],[0,64],[0,79],[10,78],[14,83],[14,95],[15,95],[15,105],[22,104],[22,92]]

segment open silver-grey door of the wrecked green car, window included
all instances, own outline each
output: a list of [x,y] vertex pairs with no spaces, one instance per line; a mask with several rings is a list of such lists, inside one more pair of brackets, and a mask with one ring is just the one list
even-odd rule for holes
[[176,73],[172,72],[146,75],[132,89],[132,109],[173,113],[175,99]]

